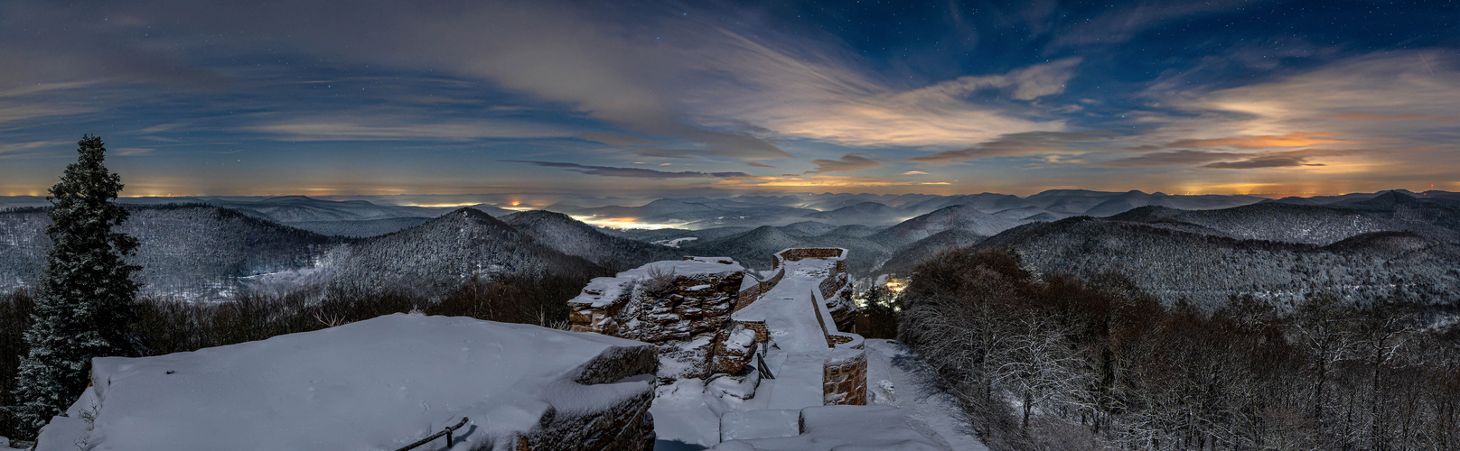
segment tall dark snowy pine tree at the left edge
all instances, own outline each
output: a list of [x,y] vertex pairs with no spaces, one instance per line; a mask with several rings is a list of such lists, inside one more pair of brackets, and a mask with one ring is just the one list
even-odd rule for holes
[[16,377],[16,406],[7,409],[32,431],[80,396],[92,358],[133,349],[127,325],[137,292],[131,274],[139,267],[123,258],[137,241],[112,232],[127,220],[127,210],[114,201],[121,177],[107,171],[99,137],[83,136],[77,144],[80,158],[66,166],[47,197],[53,223],[45,234],[53,247],[35,299],[35,323],[25,334],[31,350]]

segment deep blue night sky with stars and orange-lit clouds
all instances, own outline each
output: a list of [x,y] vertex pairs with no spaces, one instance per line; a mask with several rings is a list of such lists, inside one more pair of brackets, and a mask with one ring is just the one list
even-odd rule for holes
[[0,194],[1460,191],[1457,1],[3,1]]

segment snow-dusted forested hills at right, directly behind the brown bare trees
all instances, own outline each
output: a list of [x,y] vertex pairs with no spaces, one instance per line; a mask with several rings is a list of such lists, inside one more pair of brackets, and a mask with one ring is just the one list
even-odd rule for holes
[[1460,293],[1460,248],[1413,231],[1364,232],[1320,247],[1202,229],[1080,216],[1019,226],[980,247],[1013,251],[1038,273],[1123,273],[1165,301],[1187,298],[1207,307],[1232,295],[1283,305],[1326,290],[1353,302],[1397,296],[1453,304]]

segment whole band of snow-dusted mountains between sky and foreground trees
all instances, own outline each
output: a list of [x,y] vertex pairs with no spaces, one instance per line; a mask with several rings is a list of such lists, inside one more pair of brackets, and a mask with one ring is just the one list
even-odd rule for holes
[[[153,200],[162,198],[139,203]],[[1209,280],[1216,276],[1191,267],[1202,264],[1202,258],[1216,258],[1215,267],[1231,270],[1216,273],[1237,274],[1232,280],[1278,273],[1279,269],[1267,263],[1248,269],[1234,263],[1256,258],[1259,254],[1253,253],[1257,251],[1264,253],[1263,258],[1276,258],[1273,261],[1333,267],[1326,276],[1337,277],[1330,280],[1333,283],[1359,280],[1349,285],[1369,286],[1383,279],[1386,267],[1393,270],[1390,276],[1435,280],[1397,289],[1415,296],[1440,296],[1448,289],[1444,283],[1450,273],[1431,273],[1426,264],[1460,267],[1460,258],[1453,260],[1454,247],[1460,245],[1460,194],[1444,191],[1396,190],[1280,200],[1082,190],[1029,197],[815,194],[677,198],[641,207],[600,207],[625,215],[656,213],[664,220],[675,215],[699,217],[695,225],[729,223],[657,231],[594,228],[553,212],[450,209],[444,216],[419,217],[409,215],[441,209],[308,197],[199,200],[209,204],[133,206],[137,220],[128,228],[136,228],[145,242],[145,255],[137,258],[149,258],[146,266],[153,270],[145,279],[158,292],[216,296],[270,280],[296,282],[289,277],[336,277],[337,283],[358,289],[416,283],[438,290],[472,274],[602,271],[604,266],[626,267],[680,255],[729,255],[748,267],[768,267],[764,255],[787,247],[848,248],[853,251],[848,266],[857,274],[904,271],[939,250],[968,245],[1022,248],[1041,255],[1029,260],[1037,269],[1054,273],[1092,274],[1127,269],[1130,261],[1137,261],[1142,271],[1159,271],[1162,266],[1168,273],[1190,271],[1191,280],[1204,280],[1200,296],[1242,289],[1289,296],[1314,288]],[[235,210],[216,203],[250,207]],[[1215,207],[1228,203],[1240,204]],[[930,207],[936,209],[911,215]],[[1072,216],[1082,209],[1083,215]],[[339,236],[282,225],[274,216]],[[888,222],[842,223],[877,217],[888,217]],[[774,225],[752,226],[758,220]],[[0,213],[0,289],[38,277],[45,248],[42,228],[44,210]],[[677,248],[651,244],[654,241],[675,242]],[[1113,242],[1129,245],[1113,247]],[[1232,242],[1240,245],[1229,245]],[[1272,280],[1298,283],[1294,280],[1317,277],[1301,271],[1289,274]],[[1150,282],[1153,290],[1180,292],[1174,288],[1178,279],[1152,280],[1156,280]],[[1365,289],[1369,292],[1364,296],[1383,290],[1378,285]]]

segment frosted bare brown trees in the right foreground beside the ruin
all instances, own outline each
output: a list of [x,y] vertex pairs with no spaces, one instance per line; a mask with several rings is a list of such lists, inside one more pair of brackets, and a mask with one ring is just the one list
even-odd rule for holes
[[952,251],[914,271],[899,337],[996,450],[1460,448],[1453,307],[1317,295],[1204,312],[1088,280]]

